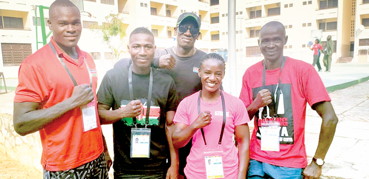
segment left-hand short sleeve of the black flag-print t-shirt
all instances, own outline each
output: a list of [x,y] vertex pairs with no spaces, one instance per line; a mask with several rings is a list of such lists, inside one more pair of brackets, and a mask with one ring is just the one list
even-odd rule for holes
[[101,104],[112,107],[114,104],[114,97],[111,91],[111,81],[109,78],[109,71],[102,78],[99,90],[97,92],[97,101]]

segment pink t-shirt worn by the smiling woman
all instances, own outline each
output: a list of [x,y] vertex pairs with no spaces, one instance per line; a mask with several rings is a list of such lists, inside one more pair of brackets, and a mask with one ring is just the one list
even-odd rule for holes
[[[192,124],[198,116],[197,99],[199,92],[186,97],[181,101],[173,121],[186,125]],[[223,161],[223,172],[225,179],[236,179],[238,174],[238,152],[233,143],[233,134],[235,126],[245,124],[250,121],[247,110],[242,101],[223,91],[226,104],[227,121],[224,128],[222,145],[220,151]],[[209,126],[204,127],[204,135],[209,149],[218,148],[218,141],[223,124],[222,99],[213,103],[206,103],[201,99],[201,111],[211,111],[212,121]],[[206,179],[206,167],[204,157],[205,143],[198,130],[192,139],[190,155],[187,157],[187,165],[184,170],[188,179]]]

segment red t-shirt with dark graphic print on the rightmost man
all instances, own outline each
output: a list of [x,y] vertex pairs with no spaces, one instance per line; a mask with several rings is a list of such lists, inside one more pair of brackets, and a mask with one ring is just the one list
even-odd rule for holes
[[[240,99],[248,107],[261,89],[269,89],[275,94],[281,68],[266,70],[265,87],[263,87],[262,61],[248,68],[243,76]],[[312,106],[322,101],[331,101],[328,92],[311,64],[287,57],[281,72],[281,86],[284,101],[283,114],[279,115],[280,152],[261,151],[261,134],[259,131],[262,114],[272,112],[263,108],[255,114],[255,128],[250,140],[250,158],[268,164],[305,168],[308,161],[305,149],[306,104]],[[276,103],[279,104],[279,103]],[[278,111],[278,108],[275,111]],[[259,126],[259,127],[258,127]]]

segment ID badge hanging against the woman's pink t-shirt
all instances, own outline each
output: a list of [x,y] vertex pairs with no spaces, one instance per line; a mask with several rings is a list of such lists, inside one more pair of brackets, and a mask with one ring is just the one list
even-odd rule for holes
[[205,168],[207,179],[223,179],[222,156],[205,156]]

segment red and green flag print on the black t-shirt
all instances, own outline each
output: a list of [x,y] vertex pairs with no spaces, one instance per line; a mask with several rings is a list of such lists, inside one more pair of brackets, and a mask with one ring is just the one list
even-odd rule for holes
[[[141,101],[143,105],[143,110],[141,111],[141,114],[136,117],[137,123],[144,126],[146,123],[146,112],[147,112],[147,99],[141,98],[138,99]],[[120,102],[120,106],[124,107],[130,102],[130,100],[122,100]],[[160,124],[160,107],[157,105],[154,101],[151,101],[150,105],[150,114],[149,114],[149,124],[148,126],[159,126]],[[133,119],[132,118],[123,118],[123,123],[126,126],[134,126],[133,125]],[[135,121],[136,122],[136,121]]]

